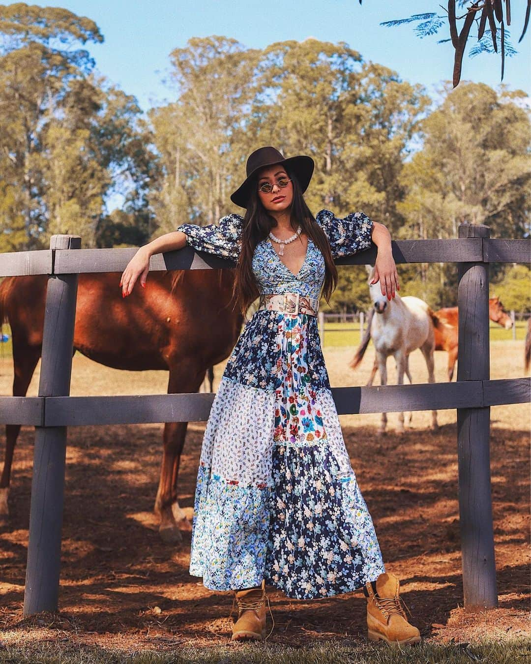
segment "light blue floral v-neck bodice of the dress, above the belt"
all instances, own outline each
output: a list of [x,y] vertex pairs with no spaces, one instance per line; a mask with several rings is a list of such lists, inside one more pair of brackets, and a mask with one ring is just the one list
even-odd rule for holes
[[293,274],[266,238],[256,245],[252,270],[260,293],[301,293],[308,297],[319,297],[325,280],[325,259],[311,238],[308,238],[301,269]]

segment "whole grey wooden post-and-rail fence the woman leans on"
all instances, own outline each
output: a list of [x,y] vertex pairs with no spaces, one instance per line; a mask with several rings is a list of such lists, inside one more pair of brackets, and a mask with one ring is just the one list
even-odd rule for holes
[[[38,396],[0,397],[0,422],[35,426],[24,615],[58,608],[66,428],[82,424],[205,422],[214,394],[72,397],[70,373],[78,274],[123,272],[136,252],[81,249],[78,236],[56,235],[50,249],[0,254],[0,276],[47,274]],[[457,408],[459,515],[465,608],[497,606],[494,565],[490,407],[530,401],[530,379],[489,378],[489,262],[530,261],[529,240],[494,240],[487,226],[463,224],[459,238],[393,242],[396,263],[459,264],[457,382],[333,388],[339,414]],[[338,258],[374,263],[376,247]],[[232,262],[189,246],[157,254],[151,270],[230,268]],[[126,306],[126,304],[124,304]]]

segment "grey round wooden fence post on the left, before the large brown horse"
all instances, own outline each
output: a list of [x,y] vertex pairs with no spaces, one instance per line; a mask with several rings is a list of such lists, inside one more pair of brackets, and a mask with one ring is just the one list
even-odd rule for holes
[[[50,238],[52,250],[80,246],[79,236]],[[77,274],[48,278],[38,396],[70,394],[77,291]],[[58,608],[65,458],[66,426],[36,427],[24,616]]]

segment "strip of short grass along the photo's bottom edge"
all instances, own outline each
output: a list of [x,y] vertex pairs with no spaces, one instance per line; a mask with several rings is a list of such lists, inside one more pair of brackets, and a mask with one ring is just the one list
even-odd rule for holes
[[0,650],[1,664],[445,664],[471,662],[520,664],[531,657],[531,641],[482,641],[392,648],[385,644],[316,643],[303,648],[279,644],[183,647],[171,651],[120,652],[74,643],[42,643]]

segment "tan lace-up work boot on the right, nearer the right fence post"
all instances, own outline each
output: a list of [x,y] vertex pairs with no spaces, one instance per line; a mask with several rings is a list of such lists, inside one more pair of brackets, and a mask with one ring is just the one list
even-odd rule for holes
[[400,605],[400,582],[394,574],[380,574],[376,579],[376,594],[368,581],[367,627],[369,641],[386,641],[392,645],[419,643],[420,631],[410,625]]

